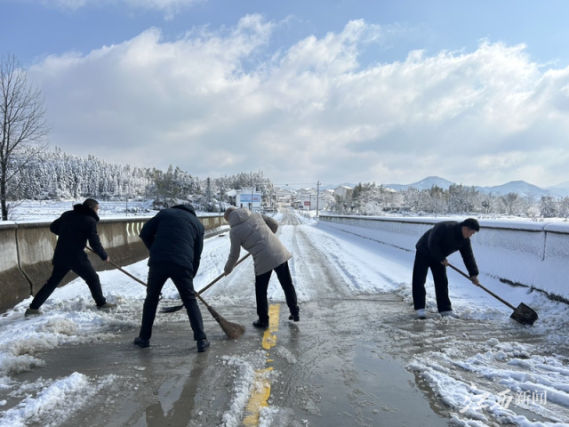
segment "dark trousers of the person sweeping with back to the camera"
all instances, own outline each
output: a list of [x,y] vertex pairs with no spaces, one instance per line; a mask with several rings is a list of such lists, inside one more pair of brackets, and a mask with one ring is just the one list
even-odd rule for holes
[[152,325],[156,318],[156,309],[160,300],[160,292],[166,280],[172,278],[172,282],[180,293],[180,299],[188,312],[189,325],[194,331],[194,341],[203,340],[204,320],[202,312],[196,302],[196,291],[194,290],[194,277],[192,273],[176,264],[164,264],[159,267],[151,266],[148,269],[148,288],[144,309],[142,310],[142,325],[140,326],[140,338],[149,340],[152,336]]

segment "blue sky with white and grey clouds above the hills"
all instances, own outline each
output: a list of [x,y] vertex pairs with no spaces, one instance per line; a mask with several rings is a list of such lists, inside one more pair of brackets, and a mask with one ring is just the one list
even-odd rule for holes
[[[569,181],[569,3],[0,0],[51,145],[200,177]],[[159,147],[159,149],[157,149]]]

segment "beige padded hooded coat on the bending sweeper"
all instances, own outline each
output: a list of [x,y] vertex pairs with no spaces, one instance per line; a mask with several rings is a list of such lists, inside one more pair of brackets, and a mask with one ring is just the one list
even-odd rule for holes
[[275,236],[278,222],[261,214],[252,214],[242,207],[228,216],[231,226],[231,251],[225,264],[225,273],[229,274],[239,259],[241,246],[252,254],[255,276],[260,276],[275,269],[293,257],[281,241]]

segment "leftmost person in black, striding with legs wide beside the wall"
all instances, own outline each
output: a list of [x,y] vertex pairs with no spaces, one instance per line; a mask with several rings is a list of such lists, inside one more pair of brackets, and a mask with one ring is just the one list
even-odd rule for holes
[[107,252],[100,244],[97,233],[98,212],[99,202],[93,198],[87,198],[82,205],[74,205],[72,211],[63,213],[60,218],[52,222],[50,230],[59,236],[53,253],[52,276],[47,279],[45,285],[29,304],[26,316],[42,314],[39,308],[68,274],[69,270],[84,279],[91,290],[92,299],[95,300],[97,308],[108,310],[116,307],[116,304],[107,302],[103,296],[99,275],[92,268],[84,251],[87,241],[89,241],[92,250],[100,256],[101,260],[110,261]]

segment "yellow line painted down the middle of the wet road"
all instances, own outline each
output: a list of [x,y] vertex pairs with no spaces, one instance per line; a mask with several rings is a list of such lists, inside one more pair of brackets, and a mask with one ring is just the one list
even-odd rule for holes
[[[263,334],[261,345],[263,349],[270,350],[276,345],[276,332],[278,331],[278,315],[280,305],[273,304],[268,307],[268,329]],[[269,353],[267,353],[269,356]],[[267,363],[273,359],[267,359]],[[248,415],[244,417],[243,425],[246,427],[256,427],[259,425],[260,409],[268,407],[268,398],[270,397],[270,381],[268,374],[273,367],[258,369],[255,371],[253,379],[254,390],[251,392],[249,401],[247,402],[246,412]]]

